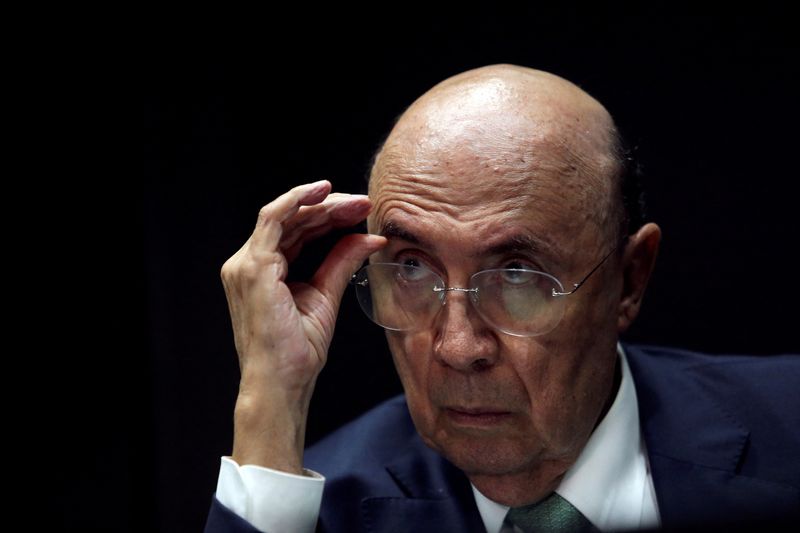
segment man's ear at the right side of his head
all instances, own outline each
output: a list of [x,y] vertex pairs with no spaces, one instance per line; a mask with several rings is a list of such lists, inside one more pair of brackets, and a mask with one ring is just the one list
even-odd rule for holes
[[642,297],[656,264],[661,228],[653,223],[642,226],[628,237],[622,258],[622,294],[617,313],[617,331],[627,330],[639,314]]

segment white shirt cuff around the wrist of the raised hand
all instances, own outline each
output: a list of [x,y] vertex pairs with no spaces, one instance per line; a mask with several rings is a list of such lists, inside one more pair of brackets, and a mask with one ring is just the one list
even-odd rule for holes
[[302,476],[223,457],[217,480],[219,502],[261,531],[312,533],[317,525],[325,478]]

